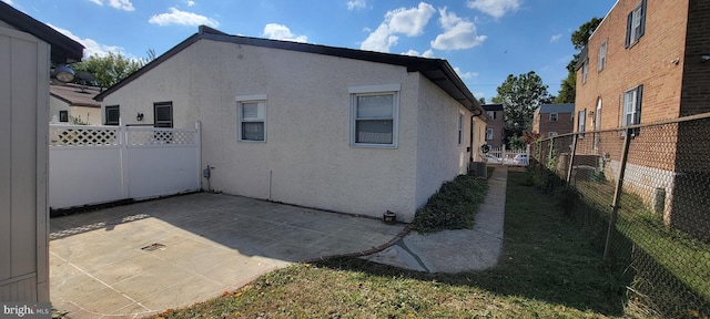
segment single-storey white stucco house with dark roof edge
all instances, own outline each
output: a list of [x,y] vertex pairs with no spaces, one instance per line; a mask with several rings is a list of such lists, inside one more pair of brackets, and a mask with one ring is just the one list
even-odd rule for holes
[[336,212],[412,222],[444,182],[483,161],[471,150],[485,112],[439,59],[203,25],[97,100],[106,123],[200,121],[213,191]]

